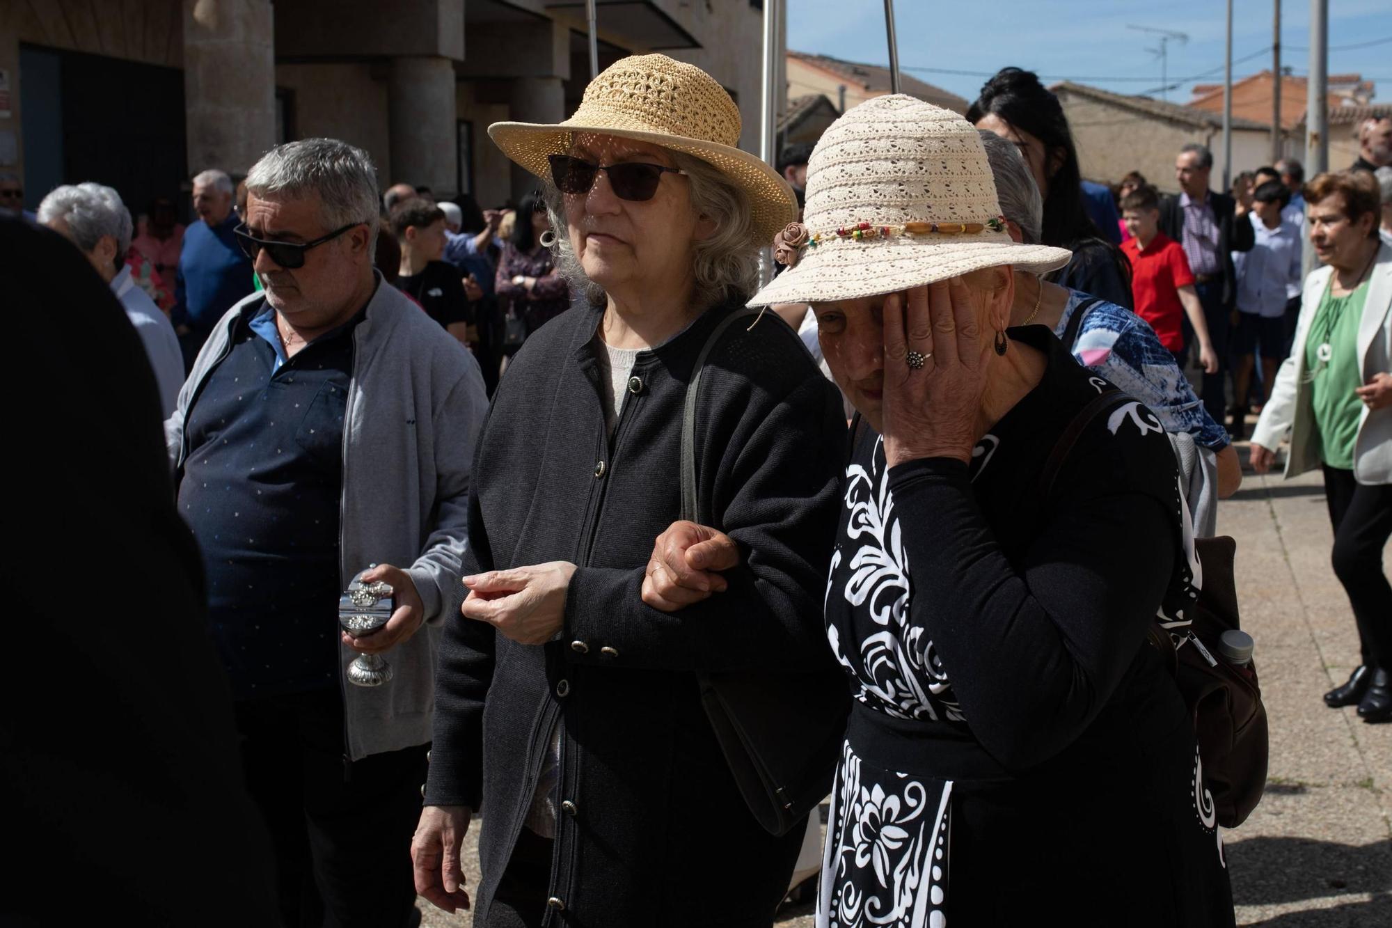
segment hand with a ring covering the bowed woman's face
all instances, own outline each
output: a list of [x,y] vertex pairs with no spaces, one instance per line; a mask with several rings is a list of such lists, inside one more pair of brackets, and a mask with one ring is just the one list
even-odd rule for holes
[[[889,467],[923,457],[972,460],[990,350],[960,279],[884,301],[881,415]],[[909,351],[927,355],[919,371],[909,368]]]

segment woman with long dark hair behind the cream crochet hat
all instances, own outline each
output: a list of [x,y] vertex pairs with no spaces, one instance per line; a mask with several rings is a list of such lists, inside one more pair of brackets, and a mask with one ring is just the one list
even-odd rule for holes
[[981,86],[966,118],[1015,142],[1030,166],[1044,198],[1043,242],[1073,252],[1068,266],[1050,277],[1051,283],[1130,309],[1130,266],[1087,215],[1077,150],[1058,98],[1033,71],[1001,68]]

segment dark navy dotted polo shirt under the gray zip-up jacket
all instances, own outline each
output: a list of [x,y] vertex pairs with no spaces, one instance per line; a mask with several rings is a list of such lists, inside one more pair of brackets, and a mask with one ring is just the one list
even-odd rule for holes
[[180,514],[207,569],[232,695],[338,683],[338,504],[352,329],[285,357],[274,312],[246,307],[185,419]]

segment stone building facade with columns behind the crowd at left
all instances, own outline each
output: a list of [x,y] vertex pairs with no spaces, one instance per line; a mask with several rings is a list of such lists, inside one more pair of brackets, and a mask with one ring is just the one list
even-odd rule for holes
[[[714,75],[757,150],[760,0],[599,0],[600,67],[658,50]],[[0,0],[0,171],[29,208],[111,184],[138,212],[280,141],[366,149],[406,181],[483,205],[535,180],[487,139],[558,121],[589,81],[582,0]]]

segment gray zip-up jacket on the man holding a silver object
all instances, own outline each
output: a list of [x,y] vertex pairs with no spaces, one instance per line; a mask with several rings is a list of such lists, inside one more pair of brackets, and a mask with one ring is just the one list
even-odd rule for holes
[[[227,353],[238,315],[263,300],[256,293],[227,311],[180,390],[164,422],[175,481],[187,454],[188,410]],[[426,626],[386,652],[394,676],[384,686],[347,683],[344,667],[356,652],[340,645],[345,752],[356,761],[430,740],[440,626],[457,616],[464,601],[459,564],[469,468],[489,400],[473,355],[380,274],[352,340],[338,524],[341,585],[367,564],[395,564],[415,582],[426,612]]]

